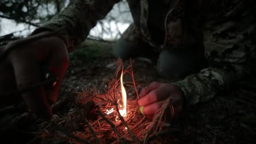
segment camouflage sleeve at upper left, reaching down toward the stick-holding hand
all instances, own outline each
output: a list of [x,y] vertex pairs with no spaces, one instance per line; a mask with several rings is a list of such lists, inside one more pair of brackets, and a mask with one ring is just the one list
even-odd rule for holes
[[43,23],[31,35],[42,31],[57,31],[67,46],[68,51],[82,43],[98,20],[103,19],[120,0],[73,0],[55,15]]

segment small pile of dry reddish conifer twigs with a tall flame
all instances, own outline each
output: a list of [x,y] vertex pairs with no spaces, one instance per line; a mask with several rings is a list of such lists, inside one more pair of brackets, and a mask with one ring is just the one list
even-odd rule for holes
[[[138,85],[132,60],[124,68],[124,61],[118,59],[116,66],[106,93],[100,94],[96,87],[74,92],[74,109],[65,117],[55,115],[50,122],[39,125],[39,135],[45,143],[148,143],[161,134],[166,109],[173,111],[171,99],[165,101],[153,119],[146,118],[137,104]],[[124,82],[123,77],[131,81]],[[127,98],[129,88],[135,95]]]

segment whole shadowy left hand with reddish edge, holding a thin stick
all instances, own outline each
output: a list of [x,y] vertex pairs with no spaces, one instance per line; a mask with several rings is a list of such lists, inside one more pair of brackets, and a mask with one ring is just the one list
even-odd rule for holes
[[[39,34],[45,34],[43,32]],[[31,37],[36,37],[33,35]],[[26,41],[19,45],[20,41]],[[4,61],[0,62],[0,95],[10,89],[23,89],[42,82],[43,65],[57,76],[54,86],[40,86],[22,93],[28,108],[40,118],[50,119],[53,113],[50,106],[56,102],[61,79],[69,66],[66,45],[59,37],[51,36],[36,40],[20,39],[6,45],[13,49]],[[5,47],[6,47],[5,46]],[[1,52],[1,50],[0,50]],[[8,81],[4,81],[7,80]],[[12,86],[16,84],[15,86]],[[9,98],[2,98],[9,99]]]

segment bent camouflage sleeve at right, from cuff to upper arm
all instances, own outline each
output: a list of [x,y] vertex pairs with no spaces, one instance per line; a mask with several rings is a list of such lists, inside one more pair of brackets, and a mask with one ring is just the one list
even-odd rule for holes
[[210,66],[173,83],[183,90],[185,107],[210,100],[248,73],[248,64],[255,57],[255,25],[251,22],[245,19],[214,27],[208,23],[204,41]]

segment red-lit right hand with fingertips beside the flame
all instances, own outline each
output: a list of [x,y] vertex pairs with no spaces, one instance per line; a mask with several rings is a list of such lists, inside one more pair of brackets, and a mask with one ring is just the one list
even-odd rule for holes
[[[144,106],[143,114],[150,119],[153,118],[155,112],[161,108],[164,100],[168,97],[171,97],[171,104],[176,116],[183,109],[183,92],[179,87],[172,84],[152,82],[141,90],[139,97],[138,105]],[[167,113],[168,116],[171,116],[170,113]]]

